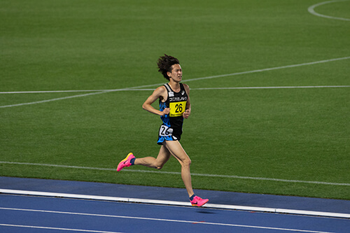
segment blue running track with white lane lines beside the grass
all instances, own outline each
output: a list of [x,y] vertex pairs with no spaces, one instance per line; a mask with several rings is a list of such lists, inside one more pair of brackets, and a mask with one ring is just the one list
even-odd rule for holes
[[[195,190],[211,204],[197,208],[186,206],[184,189],[8,177],[0,177],[0,192],[0,232],[350,232],[346,200]],[[152,200],[161,204],[145,204]]]

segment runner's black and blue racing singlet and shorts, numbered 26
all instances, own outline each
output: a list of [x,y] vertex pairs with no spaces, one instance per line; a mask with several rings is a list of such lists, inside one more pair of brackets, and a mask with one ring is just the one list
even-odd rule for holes
[[164,86],[167,88],[168,97],[165,102],[159,100],[159,108],[160,111],[170,108],[170,113],[160,117],[163,124],[160,126],[158,144],[161,144],[165,140],[174,141],[181,139],[183,113],[186,110],[188,99],[188,94],[182,83],[180,83],[181,89],[179,92],[174,92],[168,83]]

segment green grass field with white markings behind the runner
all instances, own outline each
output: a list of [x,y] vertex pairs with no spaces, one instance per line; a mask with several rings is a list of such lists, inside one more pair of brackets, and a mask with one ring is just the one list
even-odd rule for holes
[[350,199],[350,1],[321,2],[0,0],[0,176],[183,188],[174,158],[112,170],[158,154],[167,53],[195,189]]

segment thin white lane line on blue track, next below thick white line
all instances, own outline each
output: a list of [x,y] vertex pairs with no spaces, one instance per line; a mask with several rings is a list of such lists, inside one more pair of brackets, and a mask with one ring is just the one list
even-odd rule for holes
[[144,217],[134,217],[134,216],[113,216],[105,214],[94,214],[94,213],[76,213],[76,212],[64,212],[64,211],[45,211],[45,210],[36,210],[36,209],[15,209],[15,208],[1,208],[3,210],[9,211],[30,211],[30,212],[41,212],[41,213],[59,213],[67,215],[78,215],[78,216],[97,216],[97,217],[106,217],[106,218],[128,218],[128,219],[138,219],[138,220],[153,220],[153,221],[163,221],[163,222],[172,222],[172,223],[191,223],[191,224],[203,224],[203,225],[220,225],[228,227],[245,227],[245,228],[255,228],[255,229],[264,229],[264,230],[282,230],[290,232],[312,232],[312,233],[331,233],[331,232],[319,232],[313,230],[298,230],[290,228],[279,228],[279,227],[262,227],[254,225],[239,225],[239,224],[230,224],[230,223],[211,223],[211,222],[195,222],[188,220],[176,220],[176,219],[167,219],[167,218],[144,218]]

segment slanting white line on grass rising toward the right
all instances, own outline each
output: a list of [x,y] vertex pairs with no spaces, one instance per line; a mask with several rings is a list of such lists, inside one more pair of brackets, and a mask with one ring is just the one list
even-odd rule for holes
[[[287,68],[293,68],[293,67],[298,67],[298,66],[308,66],[312,64],[321,64],[325,62],[335,62],[335,61],[340,61],[344,59],[350,59],[350,57],[339,57],[335,59],[326,59],[326,60],[321,60],[317,62],[307,62],[307,63],[302,63],[302,64],[293,64],[293,65],[288,65],[288,66],[278,66],[278,67],[273,67],[273,68],[267,68],[267,69],[257,69],[255,71],[244,71],[244,72],[238,72],[238,73],[228,73],[228,74],[222,74],[219,76],[208,76],[208,77],[203,77],[203,78],[192,78],[186,80],[186,82],[190,81],[197,81],[197,80],[204,80],[204,79],[211,79],[211,78],[223,78],[223,77],[228,77],[228,76],[237,76],[241,74],[247,74],[247,73],[258,73],[258,72],[264,72],[264,71],[273,71],[277,69],[287,69]],[[24,105],[30,105],[30,104],[42,104],[50,101],[57,101],[57,100],[63,100],[63,99],[72,99],[72,98],[77,98],[77,97],[87,97],[92,94],[104,94],[107,92],[118,92],[118,91],[123,91],[123,90],[132,90],[132,89],[139,89],[139,88],[144,88],[144,87],[153,87],[156,85],[163,85],[163,83],[156,83],[156,84],[151,84],[151,85],[142,85],[138,87],[128,87],[128,88],[123,88],[123,89],[116,89],[116,90],[104,90],[101,92],[94,92],[94,93],[87,93],[87,94],[78,94],[78,95],[73,95],[70,97],[62,97],[62,98],[55,98],[55,99],[46,99],[43,101],[34,101],[34,102],[29,102],[29,103],[22,103],[22,104],[10,104],[10,105],[5,105],[5,106],[0,106],[0,108],[9,108],[9,107],[14,107],[14,106],[24,106]]]

